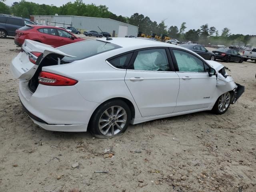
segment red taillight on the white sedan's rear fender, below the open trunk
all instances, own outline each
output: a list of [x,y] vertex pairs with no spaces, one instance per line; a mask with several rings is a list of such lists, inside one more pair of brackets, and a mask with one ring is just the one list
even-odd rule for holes
[[78,81],[55,73],[41,71],[38,76],[38,82],[39,84],[50,86],[72,86],[77,84]]

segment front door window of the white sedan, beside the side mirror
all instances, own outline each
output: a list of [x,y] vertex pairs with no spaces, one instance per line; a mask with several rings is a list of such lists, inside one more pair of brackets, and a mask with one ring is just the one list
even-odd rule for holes
[[173,50],[180,72],[205,72],[204,62],[196,56],[181,50]]

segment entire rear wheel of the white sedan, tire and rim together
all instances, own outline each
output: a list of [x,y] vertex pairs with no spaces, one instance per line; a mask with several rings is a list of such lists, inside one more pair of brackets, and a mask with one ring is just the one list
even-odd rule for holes
[[111,100],[103,103],[94,111],[90,119],[89,130],[96,138],[112,138],[122,135],[128,128],[130,120],[131,111],[126,102]]

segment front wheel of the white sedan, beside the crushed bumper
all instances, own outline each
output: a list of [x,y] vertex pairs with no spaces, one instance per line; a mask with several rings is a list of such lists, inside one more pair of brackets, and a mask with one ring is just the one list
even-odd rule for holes
[[224,114],[230,106],[231,98],[232,94],[230,92],[222,94],[214,104],[212,112],[214,112],[217,115]]

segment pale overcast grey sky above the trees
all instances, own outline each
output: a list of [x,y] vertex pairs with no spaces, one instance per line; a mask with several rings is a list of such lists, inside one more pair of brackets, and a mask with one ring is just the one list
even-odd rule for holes
[[[11,5],[15,0],[6,0]],[[20,0],[16,0],[19,2]],[[62,6],[74,0],[27,0],[39,4]],[[199,29],[208,23],[221,34],[223,28],[232,34],[256,35],[255,0],[83,0],[86,4],[106,5],[116,15],[128,16],[138,12],[168,26],[178,26],[186,22],[186,31]]]

